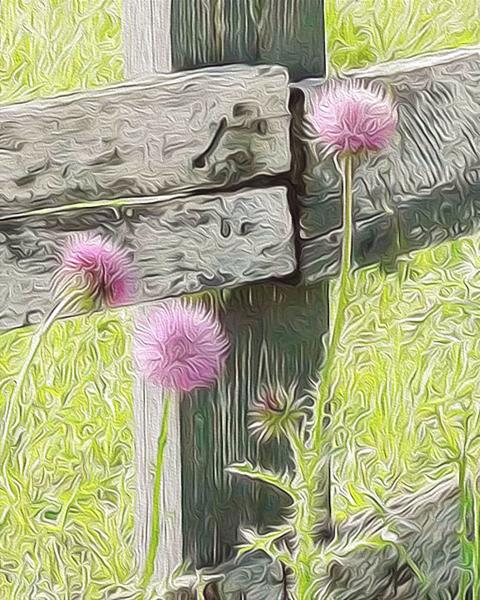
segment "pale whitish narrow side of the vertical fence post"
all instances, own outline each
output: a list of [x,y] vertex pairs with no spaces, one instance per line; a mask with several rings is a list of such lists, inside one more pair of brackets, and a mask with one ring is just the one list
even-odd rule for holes
[[[123,40],[125,77],[153,75],[171,71],[170,0],[123,2]],[[133,318],[145,315],[143,308],[132,310]],[[154,578],[164,580],[183,560],[182,484],[180,413],[178,398],[172,402],[168,418],[161,482],[160,543]],[[154,469],[157,441],[165,394],[135,375],[133,387],[135,437],[135,525],[134,553],[141,573],[150,541],[153,510]]]

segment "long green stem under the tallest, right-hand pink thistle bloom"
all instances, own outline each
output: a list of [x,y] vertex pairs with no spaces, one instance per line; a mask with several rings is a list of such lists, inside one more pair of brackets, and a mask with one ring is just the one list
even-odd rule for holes
[[[326,433],[326,417],[330,412],[330,401],[332,396],[331,378],[335,359],[342,336],[345,323],[345,310],[348,305],[349,291],[351,286],[351,264],[352,264],[352,238],[353,238],[353,157],[345,155],[341,159],[342,183],[343,183],[343,240],[342,255],[340,264],[340,276],[338,280],[337,306],[331,319],[331,337],[327,344],[326,357],[323,369],[321,371],[321,380],[318,389],[318,399],[315,406],[313,428],[312,428],[312,448],[313,457],[310,461],[310,470],[315,473],[314,480],[317,489],[320,488],[318,464],[322,463],[322,458],[326,456],[327,460],[327,481],[326,481],[326,525],[329,531],[332,530],[332,499],[331,499],[331,434]],[[329,424],[331,426],[331,423]],[[314,509],[315,510],[315,509]]]

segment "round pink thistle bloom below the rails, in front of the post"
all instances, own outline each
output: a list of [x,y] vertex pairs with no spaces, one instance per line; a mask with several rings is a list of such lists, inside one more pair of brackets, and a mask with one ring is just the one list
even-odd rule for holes
[[228,340],[214,315],[200,305],[166,301],[137,324],[136,333],[136,362],[164,389],[209,387],[225,365]]

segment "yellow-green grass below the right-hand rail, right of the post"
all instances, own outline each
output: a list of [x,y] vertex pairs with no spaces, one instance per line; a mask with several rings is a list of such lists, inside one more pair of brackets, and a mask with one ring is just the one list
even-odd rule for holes
[[[356,275],[336,380],[341,516],[452,474],[480,389],[480,235]],[[442,428],[439,428],[439,417]],[[477,461],[479,440],[471,456]]]

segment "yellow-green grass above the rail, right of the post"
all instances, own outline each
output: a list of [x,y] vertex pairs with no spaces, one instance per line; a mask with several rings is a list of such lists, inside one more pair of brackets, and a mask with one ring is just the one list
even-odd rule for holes
[[333,71],[480,43],[478,3],[465,0],[326,0]]

